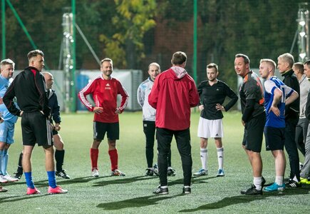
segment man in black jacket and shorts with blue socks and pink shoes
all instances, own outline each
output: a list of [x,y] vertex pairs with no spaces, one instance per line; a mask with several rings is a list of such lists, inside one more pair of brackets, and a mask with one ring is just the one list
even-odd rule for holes
[[[56,185],[55,163],[53,159],[53,141],[48,118],[51,109],[48,107],[46,86],[41,71],[44,67],[44,54],[40,50],[30,51],[27,55],[29,67],[14,78],[6,91],[3,101],[8,110],[21,116],[23,138],[23,168],[27,184],[27,195],[38,194],[40,191],[32,181],[31,154],[34,146],[42,146],[46,156],[46,172],[48,175],[48,193],[67,193]],[[17,98],[19,108],[13,100]]]

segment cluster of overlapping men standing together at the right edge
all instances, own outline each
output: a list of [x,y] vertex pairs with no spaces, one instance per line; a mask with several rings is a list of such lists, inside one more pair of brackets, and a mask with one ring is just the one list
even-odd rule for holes
[[[242,194],[261,195],[266,180],[262,177],[262,135],[264,132],[266,149],[272,151],[276,177],[272,185],[264,188],[264,191],[272,192],[283,190],[285,187],[297,188],[301,183],[308,183],[310,150],[305,153],[304,177],[299,173],[299,155],[297,151],[295,132],[299,121],[299,106],[305,111],[310,111],[310,98],[308,101],[299,102],[299,82],[294,75],[292,67],[294,58],[291,54],[282,54],[278,57],[279,72],[284,76],[284,81],[274,76],[276,63],[272,59],[264,58],[259,64],[259,74],[264,81],[264,91],[258,76],[249,68],[249,58],[244,54],[237,54],[234,60],[234,68],[239,76],[242,76],[242,84],[239,88],[242,104],[242,123],[244,124],[244,149],[249,157],[253,171],[253,185]],[[304,63],[304,71],[307,71],[310,61]],[[302,68],[300,68],[302,69]],[[302,72],[302,71],[301,71]],[[306,73],[310,78],[310,73]],[[306,87],[309,94],[309,85]],[[304,88],[303,90],[306,90]],[[305,96],[303,97],[305,99]],[[307,104],[306,104],[307,103]],[[308,107],[305,108],[305,105]],[[308,110],[307,110],[308,109]],[[309,141],[309,122],[303,123],[302,130],[304,142]],[[302,134],[302,133],[301,133]],[[307,143],[305,143],[307,144]],[[286,158],[284,147],[289,155],[290,175],[284,180]]]

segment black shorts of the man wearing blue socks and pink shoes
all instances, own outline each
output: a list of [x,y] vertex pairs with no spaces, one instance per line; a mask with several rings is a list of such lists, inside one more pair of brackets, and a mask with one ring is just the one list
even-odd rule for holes
[[40,111],[24,112],[21,115],[21,133],[25,146],[53,146],[49,121]]

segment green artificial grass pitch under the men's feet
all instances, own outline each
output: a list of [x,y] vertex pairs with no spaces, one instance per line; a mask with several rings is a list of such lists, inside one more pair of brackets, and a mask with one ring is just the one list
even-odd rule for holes
[[[252,171],[242,147],[243,128],[240,113],[224,115],[224,171],[216,178],[217,153],[210,139],[209,175],[192,179],[192,194],[182,195],[180,155],[172,143],[172,167],[175,177],[168,177],[169,195],[153,195],[157,177],[145,177],[145,137],[141,112],[120,115],[120,141],[117,142],[119,168],[125,177],[110,177],[110,159],[106,140],[101,143],[98,167],[100,177],[91,177],[89,148],[93,138],[91,113],[63,114],[61,136],[65,141],[64,168],[70,180],[57,178],[58,185],[68,189],[64,195],[48,195],[48,181],[42,148],[33,151],[33,181],[40,195],[26,195],[26,183],[5,184],[9,189],[0,193],[1,213],[305,213],[309,210],[310,185],[286,189],[283,193],[240,195],[240,190],[252,183]],[[199,113],[192,113],[193,172],[199,170],[200,143],[197,138]],[[9,150],[9,173],[13,174],[19,158],[21,127],[16,124],[16,143]],[[263,175],[267,183],[274,182],[274,160],[264,150]],[[301,156],[301,161],[304,157]],[[288,175],[289,165],[286,168]]]

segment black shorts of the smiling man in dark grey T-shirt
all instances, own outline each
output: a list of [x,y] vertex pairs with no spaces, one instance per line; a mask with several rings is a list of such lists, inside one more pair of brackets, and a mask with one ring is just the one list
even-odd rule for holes
[[242,145],[249,151],[260,153],[262,151],[262,141],[264,126],[266,123],[266,113],[261,113],[252,118],[244,126],[244,136]]

